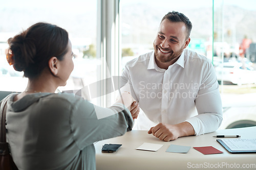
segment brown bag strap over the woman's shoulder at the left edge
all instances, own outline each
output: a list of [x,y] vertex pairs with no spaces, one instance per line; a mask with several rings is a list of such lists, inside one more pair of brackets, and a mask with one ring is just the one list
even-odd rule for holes
[[7,111],[7,101],[10,98],[9,94],[5,99],[0,103],[1,105],[1,129],[0,129],[0,142],[6,142],[6,111]]

